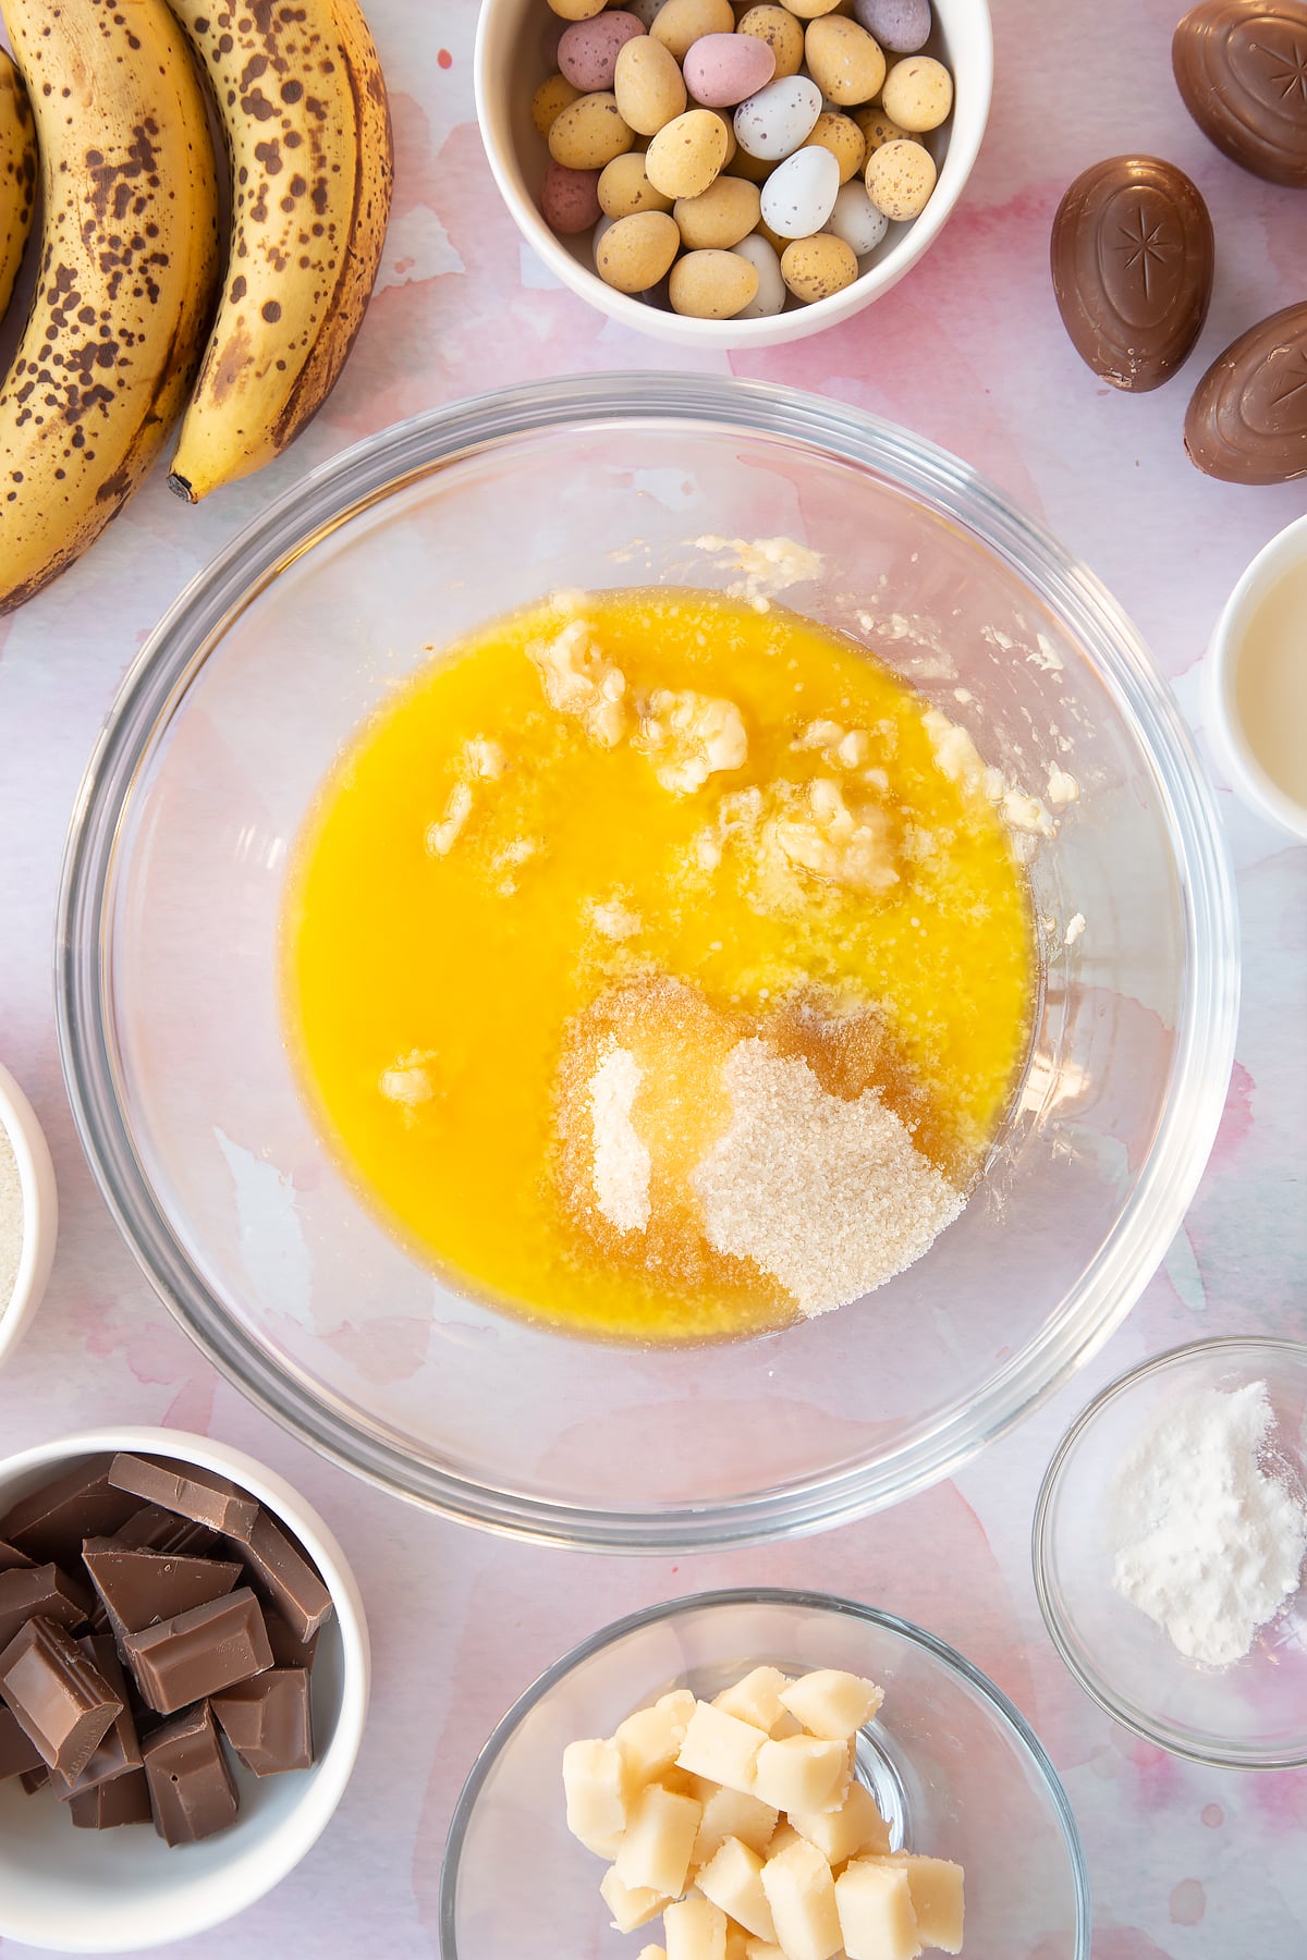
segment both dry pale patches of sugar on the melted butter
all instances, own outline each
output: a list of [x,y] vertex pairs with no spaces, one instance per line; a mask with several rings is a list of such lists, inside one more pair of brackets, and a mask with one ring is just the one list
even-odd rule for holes
[[[615,1041],[590,1076],[594,1201],[623,1235],[651,1221],[643,1080]],[[723,1127],[682,1170],[688,1211],[715,1252],[752,1260],[809,1317],[894,1278],[962,1209],[874,1090],[831,1096],[801,1056],[749,1037],[705,1058],[698,1088],[700,1107],[721,1102]]]

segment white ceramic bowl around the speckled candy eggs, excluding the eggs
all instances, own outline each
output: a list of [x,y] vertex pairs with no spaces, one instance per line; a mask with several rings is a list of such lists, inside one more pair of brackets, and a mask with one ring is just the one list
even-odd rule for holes
[[[482,143],[517,229],[551,272],[625,327],[680,347],[778,347],[821,333],[896,286],[943,231],[972,174],[993,90],[993,31],[986,0],[933,0],[935,29],[927,53],[939,53],[954,78],[952,116],[931,137],[939,182],[921,218],[890,225],[862,261],[862,274],[815,306],[792,306],[770,319],[686,319],[605,286],[594,270],[590,233],[560,239],[539,210],[549,151],[531,122],[531,96],[551,73],[545,55],[547,0],[482,0],[476,24],[476,116]],[[560,24],[562,25],[562,24]]]

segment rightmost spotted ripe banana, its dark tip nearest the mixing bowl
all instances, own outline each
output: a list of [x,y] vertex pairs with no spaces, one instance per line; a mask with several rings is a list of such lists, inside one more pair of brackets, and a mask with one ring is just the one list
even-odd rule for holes
[[170,484],[196,504],[261,468],[331,394],[363,323],[394,184],[357,0],[169,0],[210,78],[231,245]]

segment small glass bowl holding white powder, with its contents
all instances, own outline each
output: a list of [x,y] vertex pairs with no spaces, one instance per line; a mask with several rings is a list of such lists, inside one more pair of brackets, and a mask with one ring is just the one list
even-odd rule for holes
[[1307,1343],[1197,1341],[1105,1388],[1048,1464],[1033,1552],[1058,1652],[1127,1729],[1307,1764]]

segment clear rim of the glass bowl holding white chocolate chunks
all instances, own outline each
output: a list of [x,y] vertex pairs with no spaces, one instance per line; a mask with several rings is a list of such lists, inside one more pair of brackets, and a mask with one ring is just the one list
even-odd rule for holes
[[962,1676],[962,1680],[980,1693],[982,1701],[988,1701],[1007,1729],[1011,1729],[1017,1742],[1021,1742],[1027,1756],[1039,1770],[1042,1788],[1052,1799],[1076,1893],[1076,1960],[1088,1960],[1093,1911],[1089,1866],[1080,1840],[1080,1827],[1062,1778],[1054,1768],[1052,1756],[1039,1740],[1015,1701],[1011,1701],[988,1674],[982,1674],[980,1668],[966,1658],[966,1654],[960,1654],[956,1646],[950,1646],[948,1641],[941,1641],[937,1633],[917,1627],[911,1619],[899,1619],[897,1613],[886,1613],[882,1607],[864,1605],[860,1599],[847,1599],[843,1593],[807,1592],[794,1586],[721,1586],[702,1593],[686,1593],[680,1599],[662,1599],[658,1605],[647,1605],[635,1613],[625,1613],[621,1619],[609,1621],[607,1627],[600,1627],[598,1633],[586,1635],[584,1641],[578,1641],[566,1654],[551,1662],[543,1674],[537,1674],[531,1686],[517,1695],[513,1705],[482,1742],[476,1752],[476,1760],[466,1774],[462,1789],[459,1791],[453,1817],[449,1819],[445,1854],[441,1858],[439,1901],[439,1936],[445,1960],[459,1960],[455,1907],[459,1903],[457,1891],[462,1842],[486,1778],[504,1754],[513,1731],[525,1721],[531,1709],[543,1701],[551,1688],[564,1680],[564,1676],[574,1674],[576,1668],[584,1666],[594,1654],[604,1652],[605,1646],[613,1646],[617,1641],[625,1639],[629,1633],[637,1633],[641,1627],[653,1627],[660,1619],[670,1619],[674,1613],[707,1613],[723,1605],[796,1605],[809,1611],[833,1613],[837,1617],[860,1619],[872,1627],[884,1627],[888,1633],[894,1633],[911,1646],[931,1654],[935,1660],[943,1662],[948,1674]]

